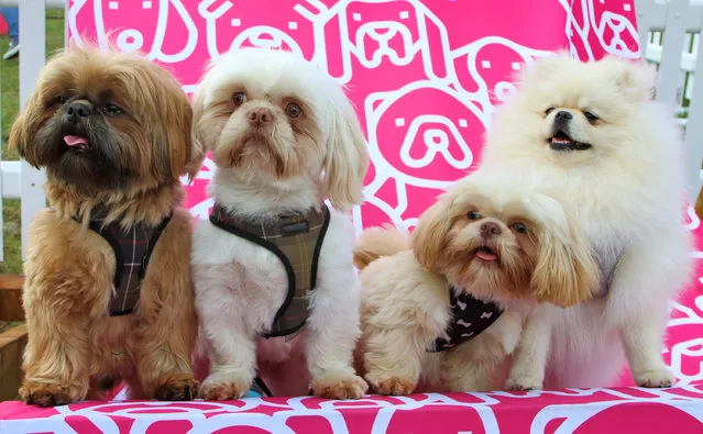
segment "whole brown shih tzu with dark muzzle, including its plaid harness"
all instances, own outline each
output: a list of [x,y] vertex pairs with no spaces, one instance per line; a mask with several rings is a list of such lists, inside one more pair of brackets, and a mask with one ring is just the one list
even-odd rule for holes
[[10,145],[46,169],[50,208],[32,222],[23,302],[24,401],[196,394],[191,226],[179,177],[202,153],[178,82],[146,59],[72,47],[52,58]]

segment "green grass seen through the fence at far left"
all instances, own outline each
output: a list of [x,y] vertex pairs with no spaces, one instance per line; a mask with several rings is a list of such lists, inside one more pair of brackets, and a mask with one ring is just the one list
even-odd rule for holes
[[[4,53],[9,38],[0,37],[0,52]],[[64,46],[64,10],[46,11],[46,53],[51,55]],[[22,42],[20,41],[20,47]],[[20,51],[21,55],[21,51]],[[8,148],[8,133],[19,109],[19,60],[18,57],[10,60],[0,60],[0,92],[2,92],[1,132],[2,132],[2,159],[17,160],[20,158],[17,151]],[[4,261],[0,263],[0,274],[22,272],[22,243],[20,225],[20,201],[4,199],[2,201]]]

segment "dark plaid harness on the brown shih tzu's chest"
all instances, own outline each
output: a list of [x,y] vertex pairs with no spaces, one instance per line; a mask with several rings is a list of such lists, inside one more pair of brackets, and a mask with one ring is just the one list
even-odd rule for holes
[[[129,230],[120,227],[118,222],[105,224],[103,218],[90,220],[88,227],[108,242],[117,261],[114,290],[108,304],[110,316],[127,315],[136,309],[149,259],[172,216],[173,212],[156,226],[139,223]],[[80,223],[78,218],[75,220]]]

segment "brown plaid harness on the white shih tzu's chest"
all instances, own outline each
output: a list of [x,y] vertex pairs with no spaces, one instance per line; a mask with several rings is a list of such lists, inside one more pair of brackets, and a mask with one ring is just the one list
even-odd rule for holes
[[300,330],[308,318],[308,291],[317,286],[317,265],[330,222],[322,203],[318,211],[282,214],[266,222],[233,216],[216,203],[210,222],[223,231],[255,243],[278,257],[288,277],[288,293],[264,337],[287,336]]

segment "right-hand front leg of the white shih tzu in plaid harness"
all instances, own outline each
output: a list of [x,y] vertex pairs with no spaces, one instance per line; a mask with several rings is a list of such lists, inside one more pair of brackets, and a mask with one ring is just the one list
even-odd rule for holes
[[[316,396],[362,398],[369,386],[354,372],[352,353],[359,338],[359,280],[349,271],[322,276],[311,296],[307,322],[307,363]],[[334,282],[328,279],[334,279]],[[332,283],[334,283],[332,286]]]

